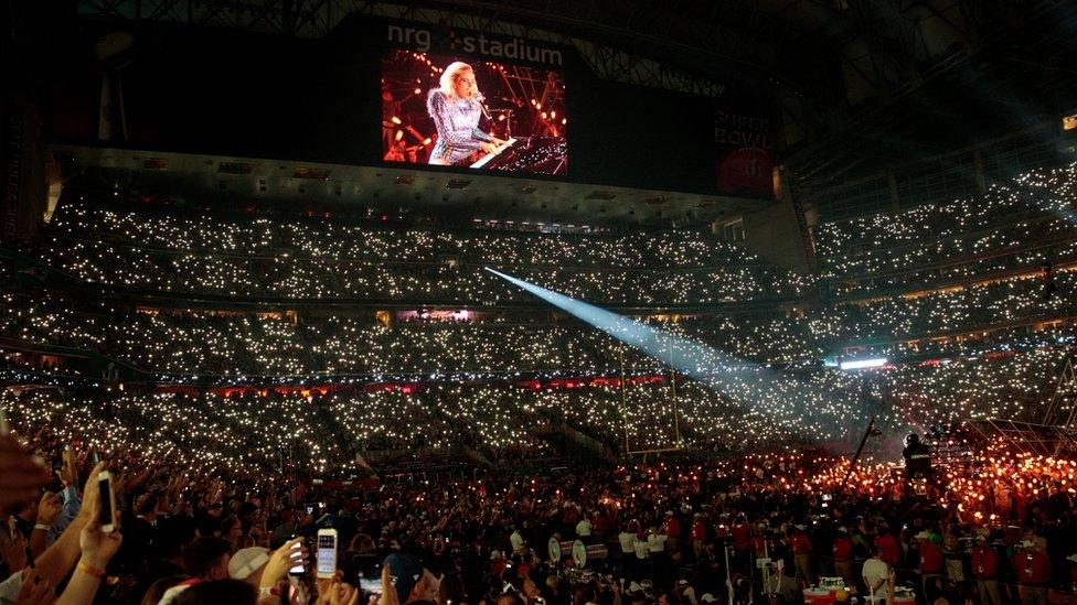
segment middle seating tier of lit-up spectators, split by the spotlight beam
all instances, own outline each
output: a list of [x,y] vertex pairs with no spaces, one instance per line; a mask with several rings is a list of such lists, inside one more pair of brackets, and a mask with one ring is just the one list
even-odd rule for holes
[[[1074,273],[1044,295],[1035,278],[951,289],[917,298],[806,307],[802,313],[706,314],[651,320],[715,352],[761,364],[804,366],[872,352],[889,358],[952,356],[1015,342],[1037,324],[1077,316]],[[663,360],[622,347],[568,318],[478,316],[386,324],[373,310],[220,313],[88,304],[77,294],[0,293],[0,337],[88,349],[149,372],[194,376],[340,376],[657,371]],[[1070,328],[1041,338],[1051,341]],[[973,337],[972,341],[969,341]]]

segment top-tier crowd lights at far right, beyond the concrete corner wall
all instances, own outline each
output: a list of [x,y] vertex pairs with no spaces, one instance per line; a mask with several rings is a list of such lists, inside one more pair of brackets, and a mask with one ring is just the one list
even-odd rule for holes
[[[1075,260],[1075,194],[1077,164],[1069,164],[1026,172],[975,198],[822,224],[815,245],[823,277],[836,293],[863,294]],[[1023,250],[1030,244],[1037,249]]]

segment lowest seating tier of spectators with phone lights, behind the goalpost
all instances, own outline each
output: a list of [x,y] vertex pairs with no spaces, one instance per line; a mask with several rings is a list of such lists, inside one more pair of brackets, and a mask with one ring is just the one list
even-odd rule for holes
[[242,386],[248,377],[212,392],[36,390],[7,392],[0,401],[14,418],[55,423],[60,433],[88,426],[95,439],[161,442],[214,460],[279,465],[300,443],[313,443],[320,453],[314,467],[339,474],[355,453],[388,450],[467,446],[489,461],[542,457],[556,450],[548,432],[562,425],[612,452],[678,445],[729,452],[847,442],[872,415],[891,432],[988,418],[1037,422],[1070,350],[1056,339],[1007,344],[870,375],[761,365],[731,374],[716,365],[711,375],[676,375],[673,382],[658,367],[627,374],[623,387],[617,372],[385,375],[324,383],[302,377],[285,386]]

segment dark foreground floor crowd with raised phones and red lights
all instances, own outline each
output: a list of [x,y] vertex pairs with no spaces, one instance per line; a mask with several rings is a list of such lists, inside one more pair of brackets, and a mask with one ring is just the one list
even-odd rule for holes
[[[1077,464],[998,443],[927,496],[899,467],[850,471],[803,449],[469,476],[362,468],[349,487],[147,436],[75,437],[42,417],[13,426],[18,440],[0,437],[0,597],[14,603],[800,605],[833,577],[828,602],[842,604],[911,603],[907,591],[1024,604],[1066,598],[1077,577]],[[103,469],[118,532],[102,528]],[[338,573],[312,577],[300,545],[308,566],[289,581],[292,547],[312,549],[324,527],[338,531]]]

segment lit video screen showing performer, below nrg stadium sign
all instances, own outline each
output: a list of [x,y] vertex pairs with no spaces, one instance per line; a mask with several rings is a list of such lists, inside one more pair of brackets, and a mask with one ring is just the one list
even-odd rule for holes
[[405,50],[382,62],[386,162],[566,175],[567,125],[556,72]]

